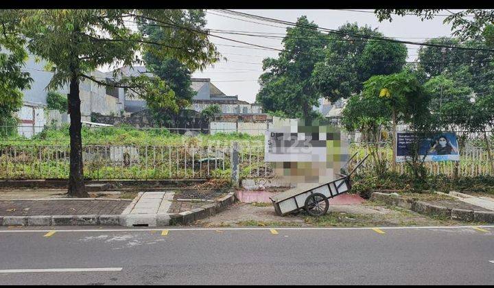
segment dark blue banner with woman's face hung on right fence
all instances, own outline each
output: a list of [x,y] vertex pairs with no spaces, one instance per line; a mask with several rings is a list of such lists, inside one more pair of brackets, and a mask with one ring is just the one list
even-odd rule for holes
[[423,137],[416,140],[411,132],[397,132],[397,162],[404,162],[413,155],[418,146],[418,154],[425,157],[426,162],[437,161],[459,161],[460,150],[458,139],[452,132],[443,132],[434,136]]

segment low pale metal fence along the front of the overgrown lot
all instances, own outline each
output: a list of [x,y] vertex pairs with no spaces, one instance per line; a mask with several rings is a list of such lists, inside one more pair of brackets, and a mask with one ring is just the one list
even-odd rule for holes
[[[101,179],[197,179],[230,178],[233,147],[223,146],[151,146],[151,145],[86,145],[82,158],[84,176]],[[351,147],[351,169],[366,154],[364,147]],[[390,169],[391,149],[382,149]],[[466,147],[460,153],[459,176],[494,175],[482,147]],[[454,163],[425,163],[432,175],[454,175]],[[372,173],[371,159],[359,173]],[[406,173],[405,164],[397,163],[397,171]],[[239,176],[271,178],[270,163],[264,161],[264,146],[239,143]],[[0,146],[0,179],[67,179],[69,177],[69,146],[10,145]]]

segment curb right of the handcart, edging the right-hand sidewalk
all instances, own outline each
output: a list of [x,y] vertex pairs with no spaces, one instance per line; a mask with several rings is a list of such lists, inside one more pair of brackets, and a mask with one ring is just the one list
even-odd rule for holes
[[494,223],[494,211],[447,208],[444,206],[429,204],[423,201],[404,199],[397,194],[387,194],[380,192],[373,192],[370,199],[381,201],[388,205],[406,208],[424,215],[439,216],[466,222],[478,221]]

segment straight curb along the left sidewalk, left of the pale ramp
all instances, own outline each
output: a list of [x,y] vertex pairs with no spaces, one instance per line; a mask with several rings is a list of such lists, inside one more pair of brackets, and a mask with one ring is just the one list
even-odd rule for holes
[[117,226],[120,215],[0,216],[0,226]]

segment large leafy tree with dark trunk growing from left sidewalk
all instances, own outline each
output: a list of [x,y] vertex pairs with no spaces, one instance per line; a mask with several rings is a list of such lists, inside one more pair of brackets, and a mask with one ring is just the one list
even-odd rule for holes
[[[70,172],[69,195],[86,197],[82,171],[82,138],[79,83],[91,80],[91,71],[106,64],[132,66],[141,62],[138,51],[152,51],[159,58],[177,58],[191,69],[204,68],[218,53],[201,27],[183,27],[185,10],[17,10],[16,28],[26,37],[27,49],[51,64],[49,88],[69,84]],[[151,41],[132,24],[158,23],[170,37]],[[174,92],[159,79],[124,78],[110,84],[128,88],[148,104],[177,108]]]

